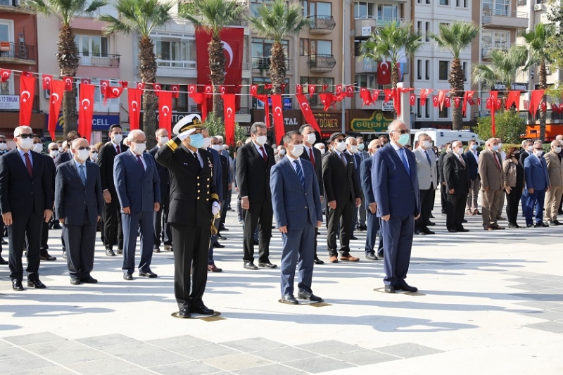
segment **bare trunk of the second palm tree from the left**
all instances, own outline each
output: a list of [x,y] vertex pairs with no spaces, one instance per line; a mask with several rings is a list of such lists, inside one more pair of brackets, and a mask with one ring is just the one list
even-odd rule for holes
[[148,35],[139,39],[139,63],[141,71],[141,82],[145,84],[143,92],[143,131],[146,136],[146,148],[156,145],[156,94],[153,91],[153,83],[156,76],[156,56],[154,44]]

